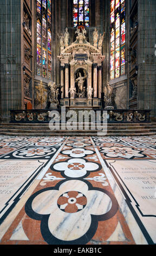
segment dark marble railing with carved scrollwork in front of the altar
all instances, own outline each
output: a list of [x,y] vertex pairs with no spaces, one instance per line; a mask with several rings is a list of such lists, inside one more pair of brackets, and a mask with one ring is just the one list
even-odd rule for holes
[[[77,115],[77,121],[79,121],[79,111],[88,112],[89,121],[93,119],[90,117],[90,109],[70,109],[74,111]],[[56,112],[56,116],[52,115]],[[68,121],[72,116],[67,117],[67,112],[69,109],[66,109],[66,112],[62,114],[61,109],[31,109],[31,110],[11,110],[10,111],[10,123],[49,123],[51,118],[56,118],[56,120],[61,121],[61,117],[65,115],[64,121]],[[149,123],[150,122],[150,110],[131,110],[131,109],[94,109],[92,110],[95,113],[95,122],[96,120],[101,120],[101,123],[105,119],[107,123]],[[99,121],[98,121],[99,123]]]

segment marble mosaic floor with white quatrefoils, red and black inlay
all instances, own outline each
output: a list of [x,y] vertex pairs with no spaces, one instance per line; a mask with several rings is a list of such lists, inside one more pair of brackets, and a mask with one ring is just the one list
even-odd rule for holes
[[156,136],[0,137],[0,245],[152,245]]

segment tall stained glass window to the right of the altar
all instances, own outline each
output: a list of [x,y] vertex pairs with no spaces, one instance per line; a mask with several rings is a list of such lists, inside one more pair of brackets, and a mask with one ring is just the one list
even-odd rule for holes
[[125,74],[125,5],[126,0],[111,0],[110,77]]

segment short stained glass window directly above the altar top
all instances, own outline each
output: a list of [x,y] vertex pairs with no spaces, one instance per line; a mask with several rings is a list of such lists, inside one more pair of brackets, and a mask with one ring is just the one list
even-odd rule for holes
[[89,0],[73,0],[74,27],[89,27]]

